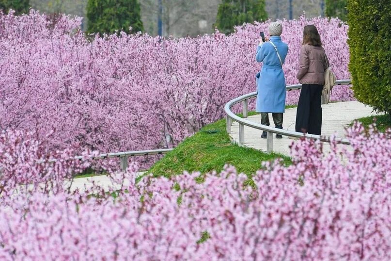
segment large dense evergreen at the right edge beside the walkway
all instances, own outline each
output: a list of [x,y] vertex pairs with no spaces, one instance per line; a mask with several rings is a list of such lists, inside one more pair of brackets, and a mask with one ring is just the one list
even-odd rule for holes
[[391,119],[390,0],[348,0],[347,8],[354,96]]

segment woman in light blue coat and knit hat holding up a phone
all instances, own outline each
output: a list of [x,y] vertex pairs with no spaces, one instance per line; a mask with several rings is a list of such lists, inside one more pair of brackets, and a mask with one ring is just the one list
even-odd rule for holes
[[[261,124],[270,125],[269,113],[273,116],[276,128],[282,129],[283,113],[285,112],[286,83],[282,70],[285,57],[288,53],[288,45],[281,40],[282,24],[271,23],[269,26],[270,40],[259,43],[255,59],[258,63],[264,63],[262,70],[256,76],[257,104],[255,111],[261,113]],[[262,133],[266,138],[266,131]],[[277,134],[281,139],[282,135]]]

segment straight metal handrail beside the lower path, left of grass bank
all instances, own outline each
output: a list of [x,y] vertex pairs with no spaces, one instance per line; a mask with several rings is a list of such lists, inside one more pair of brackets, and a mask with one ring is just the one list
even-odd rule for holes
[[[120,158],[121,159],[121,169],[123,171],[125,171],[128,166],[127,158],[129,158],[129,157],[146,156],[146,155],[161,155],[161,154],[166,154],[172,150],[173,150],[173,148],[123,151],[123,152],[115,152],[115,153],[103,153],[103,154],[99,154],[98,156],[93,156],[93,155],[76,156],[73,159],[74,160],[83,160],[83,159],[101,160],[101,159],[110,159],[110,158]],[[57,159],[51,159],[48,162],[55,163],[55,162],[57,162]]]

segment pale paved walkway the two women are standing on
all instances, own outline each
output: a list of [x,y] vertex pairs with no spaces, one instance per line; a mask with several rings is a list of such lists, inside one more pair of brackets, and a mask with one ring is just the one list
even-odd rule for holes
[[[361,117],[367,117],[375,115],[372,112],[372,108],[368,107],[358,101],[346,101],[329,103],[322,105],[323,120],[322,120],[322,135],[329,136],[331,134],[337,134],[338,137],[345,136],[345,128],[355,119]],[[270,124],[274,127],[274,123],[269,115]],[[261,114],[249,116],[250,121],[257,123],[261,122]],[[285,130],[295,131],[296,121],[296,108],[285,110],[283,128]],[[244,127],[244,146],[252,147],[255,149],[266,151],[266,139],[261,138],[262,131]],[[239,143],[239,123],[234,122],[231,126],[231,138],[234,142]],[[276,139],[273,137],[273,151],[289,155],[289,145],[294,140],[283,136],[282,139]],[[328,145],[325,144],[324,148],[327,150]]]

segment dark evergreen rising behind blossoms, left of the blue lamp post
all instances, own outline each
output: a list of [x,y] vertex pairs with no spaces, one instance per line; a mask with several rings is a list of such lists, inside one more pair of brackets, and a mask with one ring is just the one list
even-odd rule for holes
[[143,31],[138,0],[88,0],[87,18],[87,33]]

